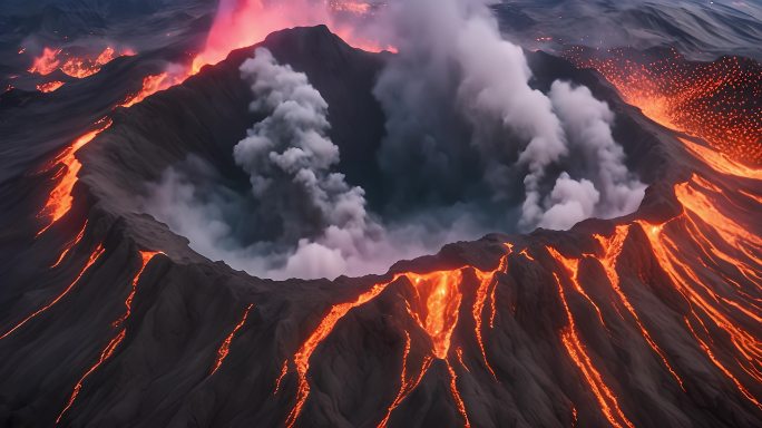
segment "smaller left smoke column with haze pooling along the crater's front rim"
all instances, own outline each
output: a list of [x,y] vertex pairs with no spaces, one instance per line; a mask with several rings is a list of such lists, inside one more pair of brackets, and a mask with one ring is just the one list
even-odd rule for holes
[[[326,136],[328,104],[307,77],[264,48],[244,61],[241,76],[254,96],[251,110],[266,115],[233,152],[250,175],[253,206],[196,157],[168,168],[144,202],[198,253],[273,279],[383,273],[472,227],[461,222],[431,233],[426,221],[382,227],[367,212],[363,189],[334,171],[340,154]],[[262,223],[272,234],[242,244],[241,222]]]

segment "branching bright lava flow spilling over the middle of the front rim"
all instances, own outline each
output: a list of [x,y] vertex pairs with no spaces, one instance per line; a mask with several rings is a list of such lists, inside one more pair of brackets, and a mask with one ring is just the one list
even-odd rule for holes
[[[508,245],[508,247],[510,249],[510,245]],[[392,403],[387,410],[385,416],[381,420],[379,427],[384,427],[387,425],[392,411],[418,387],[427,370],[431,366],[433,359],[444,361],[450,376],[449,387],[452,399],[457,410],[468,426],[468,412],[466,410],[466,405],[460,397],[460,392],[458,391],[457,373],[449,358],[452,332],[458,324],[458,314],[460,312],[460,305],[462,302],[461,284],[465,280],[465,274],[469,270],[472,270],[475,272],[475,276],[479,281],[477,302],[472,312],[475,317],[475,323],[477,323],[477,334],[479,337],[478,341],[485,363],[494,374],[494,371],[487,361],[483,343],[481,342],[481,312],[485,307],[489,285],[494,282],[495,275],[498,272],[505,271],[506,261],[507,255],[501,259],[498,268],[488,272],[467,266],[456,270],[434,271],[430,273],[398,273],[392,278],[391,281],[373,285],[369,291],[360,294],[354,301],[340,303],[331,308],[329,313],[321,320],[318,328],[304,341],[293,357],[293,362],[299,378],[299,386],[296,391],[296,402],[289,414],[285,425],[287,427],[292,427],[296,422],[296,419],[299,418],[310,395],[307,373],[310,370],[310,358],[315,352],[316,348],[331,334],[336,323],[344,315],[346,315],[350,310],[370,302],[383,290],[385,290],[388,285],[404,278],[412,288],[412,293],[410,294],[411,296],[406,299],[408,314],[416,322],[416,324],[427,333],[430,340],[430,343],[428,344],[430,353],[424,357],[417,372],[412,372],[408,361],[411,347],[411,334],[409,331],[404,331],[406,347],[402,357],[400,389],[397,393],[397,397],[393,399]],[[461,356],[459,356],[459,360],[462,360]],[[283,364],[283,372],[286,372],[286,370],[287,361]],[[276,385],[280,386],[280,379]]]

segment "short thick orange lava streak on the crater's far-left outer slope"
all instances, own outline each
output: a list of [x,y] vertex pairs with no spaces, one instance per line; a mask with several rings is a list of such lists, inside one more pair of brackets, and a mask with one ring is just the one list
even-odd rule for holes
[[42,172],[58,168],[53,179],[56,187],[50,192],[50,196],[42,210],[37,215],[46,222],[45,226],[37,233],[39,236],[47,231],[53,223],[71,210],[71,191],[77,183],[77,174],[82,164],[76,157],[77,150],[90,143],[98,134],[111,126],[110,119],[101,119],[96,124],[96,128],[77,138],[69,147],[65,148],[52,162],[48,163]]

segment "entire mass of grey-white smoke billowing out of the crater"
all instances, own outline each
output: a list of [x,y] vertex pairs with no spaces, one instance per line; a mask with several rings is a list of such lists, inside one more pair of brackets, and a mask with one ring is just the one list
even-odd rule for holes
[[264,48],[241,67],[265,117],[233,150],[250,191],[188,158],[149,185],[146,211],[211,259],[284,279],[382,273],[448,242],[636,210],[645,186],[607,104],[569,82],[533,88],[488,3],[394,2],[379,18],[399,54],[373,90],[387,132],[374,212],[339,169],[325,99]]

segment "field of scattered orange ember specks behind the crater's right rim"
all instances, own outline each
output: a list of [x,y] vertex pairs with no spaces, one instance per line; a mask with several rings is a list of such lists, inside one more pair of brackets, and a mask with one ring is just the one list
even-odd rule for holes
[[690,62],[676,51],[657,60],[633,55],[617,49],[602,58],[577,48],[568,56],[603,74],[625,101],[654,121],[702,137],[736,162],[762,165],[760,64],[737,57]]

